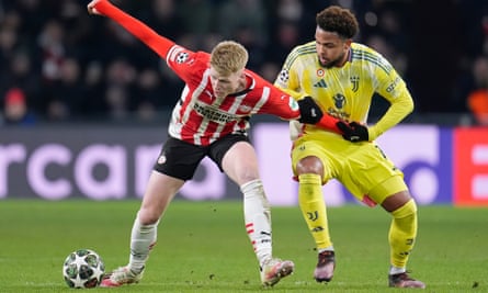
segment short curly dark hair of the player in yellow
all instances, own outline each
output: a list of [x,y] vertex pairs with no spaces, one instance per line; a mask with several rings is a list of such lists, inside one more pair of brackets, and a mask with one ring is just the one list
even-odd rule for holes
[[360,30],[354,14],[338,5],[331,5],[317,13],[316,22],[324,31],[338,33],[344,38],[353,38]]

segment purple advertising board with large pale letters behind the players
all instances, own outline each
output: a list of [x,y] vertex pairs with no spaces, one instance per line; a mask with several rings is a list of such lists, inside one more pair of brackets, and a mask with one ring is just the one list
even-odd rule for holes
[[[0,129],[0,199],[141,198],[166,127],[81,126]],[[287,123],[254,123],[250,133],[273,205],[296,205]],[[398,125],[377,139],[405,173],[419,204],[488,205],[488,128]],[[339,183],[324,187],[329,206],[355,203]],[[209,160],[180,198],[240,199]]]

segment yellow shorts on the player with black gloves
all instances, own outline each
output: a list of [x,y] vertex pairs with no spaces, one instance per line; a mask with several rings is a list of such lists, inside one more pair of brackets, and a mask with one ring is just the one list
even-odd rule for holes
[[292,149],[293,172],[308,156],[324,165],[322,183],[339,180],[359,201],[382,203],[387,196],[408,190],[404,172],[395,167],[373,143],[350,143],[337,134],[307,134],[295,140]]

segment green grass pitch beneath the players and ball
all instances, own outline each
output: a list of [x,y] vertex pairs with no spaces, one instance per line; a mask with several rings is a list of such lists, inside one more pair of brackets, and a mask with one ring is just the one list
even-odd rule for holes
[[[125,264],[138,206],[138,201],[0,201],[0,292],[72,292],[61,268],[78,248],[98,251],[107,270]],[[274,255],[295,261],[296,271],[265,290],[240,202],[175,201],[159,225],[143,281],[113,290],[394,292],[386,280],[389,216],[360,205],[332,207],[328,214],[338,258],[329,284],[311,277],[316,252],[298,207],[272,209]],[[424,292],[488,292],[487,251],[488,209],[419,207],[409,270],[427,283]]]

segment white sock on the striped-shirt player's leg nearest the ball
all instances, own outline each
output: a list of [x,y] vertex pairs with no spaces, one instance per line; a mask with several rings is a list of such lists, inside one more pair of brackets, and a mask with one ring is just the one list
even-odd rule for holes
[[130,257],[128,267],[133,272],[140,272],[149,258],[149,250],[156,244],[158,223],[141,225],[139,216],[134,221],[130,234]]

